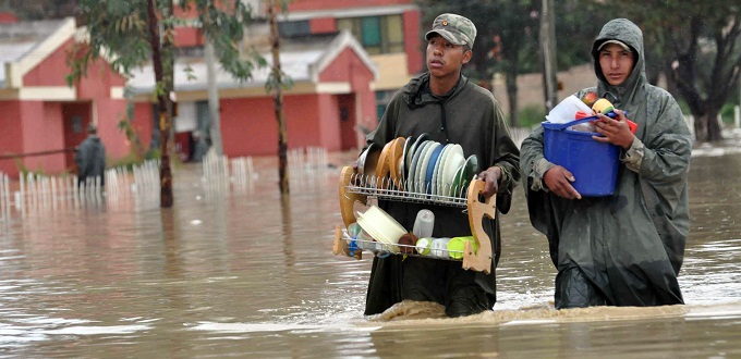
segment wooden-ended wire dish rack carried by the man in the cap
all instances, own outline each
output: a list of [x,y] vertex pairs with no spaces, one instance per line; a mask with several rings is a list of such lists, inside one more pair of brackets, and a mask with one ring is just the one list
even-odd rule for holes
[[[393,161],[389,161],[393,162]],[[379,164],[382,168],[385,161]],[[387,169],[379,169],[377,174],[386,175]],[[381,178],[381,180],[377,180]],[[432,205],[453,206],[467,209],[469,224],[471,225],[471,233],[476,240],[477,250],[474,252],[470,243],[465,243],[463,251],[463,269],[474,270],[477,272],[490,273],[491,271],[491,240],[484,232],[482,221],[484,216],[494,219],[496,213],[496,196],[481,200],[479,193],[484,190],[484,181],[473,180],[469,185],[466,196],[437,196],[425,195],[411,191],[404,191],[396,188],[403,188],[403,184],[398,180],[389,180],[381,176],[362,176],[355,173],[351,166],[342,169],[339,183],[340,209],[342,212],[342,221],[344,227],[348,228],[350,224],[356,221],[353,211],[353,205],[357,201],[363,205],[367,203],[368,197],[377,197],[386,200],[414,201],[427,202]],[[362,250],[351,250],[345,240],[347,232],[341,226],[335,228],[335,242],[332,252],[335,255],[343,255],[362,259]],[[413,256],[413,255],[409,255]],[[416,256],[416,255],[414,255]],[[435,258],[435,257],[427,257]]]

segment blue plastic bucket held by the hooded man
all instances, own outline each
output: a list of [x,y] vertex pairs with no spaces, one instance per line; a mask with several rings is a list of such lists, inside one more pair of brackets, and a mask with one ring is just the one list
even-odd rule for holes
[[569,170],[576,180],[571,185],[584,197],[612,195],[620,169],[618,146],[594,140],[592,136],[598,136],[597,133],[568,129],[597,119],[590,116],[569,123],[542,123],[546,160]]

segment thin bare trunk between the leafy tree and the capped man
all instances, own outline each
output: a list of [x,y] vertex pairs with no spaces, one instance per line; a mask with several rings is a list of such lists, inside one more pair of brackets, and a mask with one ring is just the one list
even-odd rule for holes
[[283,91],[282,72],[280,70],[280,38],[278,36],[278,22],[276,20],[276,1],[271,0],[268,7],[268,20],[270,22],[270,40],[272,45],[272,76],[275,78],[274,108],[278,121],[278,174],[281,195],[288,195],[288,140],[286,134],[286,119],[283,116]]

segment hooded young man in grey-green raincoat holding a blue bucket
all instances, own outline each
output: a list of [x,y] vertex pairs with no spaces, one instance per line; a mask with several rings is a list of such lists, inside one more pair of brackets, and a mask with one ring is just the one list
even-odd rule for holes
[[582,197],[571,185],[580,178],[545,159],[542,127],[521,147],[530,220],[548,238],[558,270],[555,306],[683,304],[677,276],[690,225],[690,129],[675,98],[646,82],[634,23],[605,24],[592,55],[597,86],[575,96],[594,91],[616,109],[616,119],[598,115],[599,136],[592,137],[621,150],[615,194]]

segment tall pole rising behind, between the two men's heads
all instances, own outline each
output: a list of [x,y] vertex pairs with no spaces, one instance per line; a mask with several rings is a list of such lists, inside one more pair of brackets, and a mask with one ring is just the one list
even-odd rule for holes
[[543,85],[546,112],[558,103],[558,85],[556,73],[556,23],[554,17],[554,0],[542,0],[540,11],[540,53],[543,54]]

